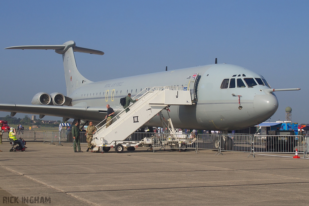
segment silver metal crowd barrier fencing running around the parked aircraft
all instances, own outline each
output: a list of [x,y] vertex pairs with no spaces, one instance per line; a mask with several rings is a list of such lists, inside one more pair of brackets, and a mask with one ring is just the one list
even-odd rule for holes
[[[43,144],[62,145],[73,144],[72,132],[64,130],[22,130],[17,131],[17,138],[25,141],[42,141]],[[194,149],[197,153],[201,149],[211,149],[222,154],[223,151],[248,152],[254,157],[254,153],[303,153],[303,158],[309,158],[309,136],[277,136],[260,134],[164,134],[135,132],[125,141],[141,141],[150,138],[150,149],[171,149],[173,151],[186,151]],[[2,141],[9,141],[9,132],[4,131]],[[81,144],[87,144],[86,132],[80,132]],[[249,156],[250,156],[249,155]]]

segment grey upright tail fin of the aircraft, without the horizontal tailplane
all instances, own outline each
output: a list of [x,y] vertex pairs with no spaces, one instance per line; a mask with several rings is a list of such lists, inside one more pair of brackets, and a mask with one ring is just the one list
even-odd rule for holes
[[66,95],[70,96],[75,89],[91,83],[91,81],[79,73],[72,47],[68,48],[68,50],[62,54],[62,59],[66,78]]

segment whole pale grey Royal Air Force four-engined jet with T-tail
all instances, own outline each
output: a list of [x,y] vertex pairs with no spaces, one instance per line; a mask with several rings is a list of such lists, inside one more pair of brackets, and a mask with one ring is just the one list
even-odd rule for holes
[[[64,121],[73,118],[101,122],[106,116],[106,105],[109,104],[116,111],[121,107],[120,99],[128,93],[133,97],[146,87],[183,86],[184,89],[190,89],[193,105],[170,107],[175,128],[229,131],[248,128],[269,119],[278,108],[274,91],[300,90],[272,89],[260,74],[241,66],[217,62],[92,82],[78,72],[74,52],[98,55],[104,52],[77,47],[74,41],[61,45],[14,46],[5,49],[53,49],[62,55],[66,79],[66,95],[40,92],[33,97],[32,105],[0,104],[0,111],[9,111],[11,116],[19,112],[38,114],[40,118],[45,115],[60,116]],[[155,116],[144,126],[161,127],[162,124],[159,116]]]

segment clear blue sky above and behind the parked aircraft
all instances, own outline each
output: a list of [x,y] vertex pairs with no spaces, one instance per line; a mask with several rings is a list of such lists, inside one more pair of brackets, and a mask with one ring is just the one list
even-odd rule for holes
[[308,10],[309,1],[1,1],[0,103],[66,93],[61,55],[2,48],[74,40],[105,53],[75,53],[91,81],[207,65],[217,57],[263,75],[273,88],[302,88],[276,92],[279,108],[270,121],[285,120],[290,106],[292,121],[309,123]]

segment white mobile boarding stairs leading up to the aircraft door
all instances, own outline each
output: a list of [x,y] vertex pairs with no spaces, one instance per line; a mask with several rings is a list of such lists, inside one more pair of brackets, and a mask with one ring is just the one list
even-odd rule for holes
[[192,105],[190,90],[185,89],[181,86],[164,86],[142,90],[136,96],[144,94],[129,106],[130,111],[120,111],[112,118],[113,122],[108,128],[106,124],[100,126],[106,119],[96,126],[97,131],[92,141],[96,147],[94,150],[98,150],[99,147],[112,147],[116,141],[124,141],[159,112],[168,109],[169,105]]

